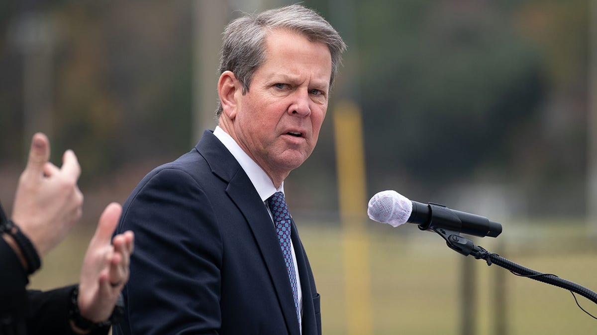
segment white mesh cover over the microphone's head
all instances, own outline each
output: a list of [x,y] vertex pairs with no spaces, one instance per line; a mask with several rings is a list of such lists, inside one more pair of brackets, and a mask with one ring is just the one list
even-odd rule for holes
[[369,200],[370,219],[398,227],[405,224],[413,212],[413,202],[396,191],[381,191]]

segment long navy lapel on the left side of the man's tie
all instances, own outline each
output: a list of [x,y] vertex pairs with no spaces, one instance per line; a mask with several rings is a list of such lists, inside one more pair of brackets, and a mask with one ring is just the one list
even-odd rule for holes
[[267,209],[261,201],[259,194],[236,159],[211,131],[205,131],[204,137],[196,146],[199,153],[205,158],[213,173],[227,181],[226,193],[238,206],[247,219],[253,231],[257,246],[272,279],[273,287],[278,294],[284,320],[288,333],[300,335],[298,320],[288,272],[284,263],[284,256],[280,243]]

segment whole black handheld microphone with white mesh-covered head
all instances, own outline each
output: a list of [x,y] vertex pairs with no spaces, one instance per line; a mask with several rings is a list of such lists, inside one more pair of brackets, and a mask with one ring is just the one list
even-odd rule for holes
[[396,191],[381,191],[369,200],[370,219],[392,227],[410,222],[421,230],[445,229],[479,237],[497,237],[501,225],[484,216],[449,209],[442,204],[423,204],[408,200]]

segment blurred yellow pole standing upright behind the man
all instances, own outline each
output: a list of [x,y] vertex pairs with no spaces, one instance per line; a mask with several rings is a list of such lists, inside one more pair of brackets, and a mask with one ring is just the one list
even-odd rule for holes
[[351,101],[334,108],[340,219],[343,227],[346,317],[349,335],[373,333],[369,247],[365,229],[365,160],[361,111]]

